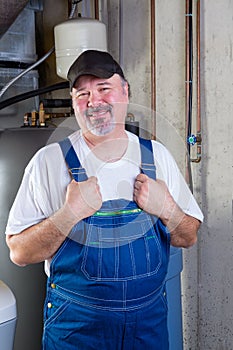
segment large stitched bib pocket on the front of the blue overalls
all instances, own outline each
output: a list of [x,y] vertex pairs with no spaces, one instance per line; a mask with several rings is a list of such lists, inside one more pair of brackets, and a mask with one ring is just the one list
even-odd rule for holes
[[81,269],[90,280],[139,279],[162,265],[161,237],[145,212],[94,218],[86,232]]

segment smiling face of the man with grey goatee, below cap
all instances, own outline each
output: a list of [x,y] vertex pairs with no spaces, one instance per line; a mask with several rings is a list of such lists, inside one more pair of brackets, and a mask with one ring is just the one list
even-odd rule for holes
[[128,84],[118,74],[109,79],[81,76],[72,89],[72,101],[83,132],[105,136],[124,129]]

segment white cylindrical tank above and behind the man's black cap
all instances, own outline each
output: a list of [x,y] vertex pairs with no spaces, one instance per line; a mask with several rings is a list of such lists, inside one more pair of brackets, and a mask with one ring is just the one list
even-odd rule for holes
[[76,58],[86,50],[107,51],[104,23],[91,18],[74,18],[54,28],[57,75],[67,79]]

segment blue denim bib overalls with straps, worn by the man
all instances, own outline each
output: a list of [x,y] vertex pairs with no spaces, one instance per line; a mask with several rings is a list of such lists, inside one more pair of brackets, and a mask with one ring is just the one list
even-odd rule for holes
[[[155,179],[151,142],[139,140],[141,171]],[[73,178],[86,180],[69,139],[60,146]],[[52,259],[43,350],[168,350],[169,251],[160,219],[133,201],[103,202]]]

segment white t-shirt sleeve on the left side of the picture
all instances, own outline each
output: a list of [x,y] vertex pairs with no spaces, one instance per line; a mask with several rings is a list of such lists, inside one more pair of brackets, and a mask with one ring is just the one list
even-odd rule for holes
[[63,204],[70,176],[60,147],[51,144],[31,159],[11,207],[6,234],[17,234],[48,218]]

